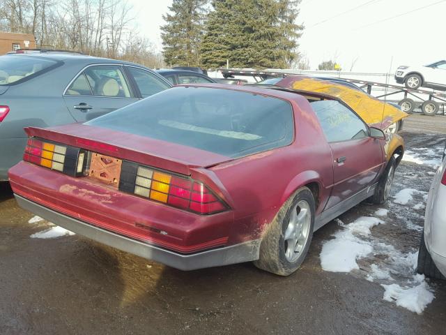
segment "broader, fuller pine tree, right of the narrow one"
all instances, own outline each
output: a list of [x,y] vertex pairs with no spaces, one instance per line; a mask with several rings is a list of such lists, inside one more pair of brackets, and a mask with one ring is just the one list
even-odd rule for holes
[[212,68],[283,68],[295,58],[301,26],[300,2],[290,0],[214,0],[201,45],[203,64]]

